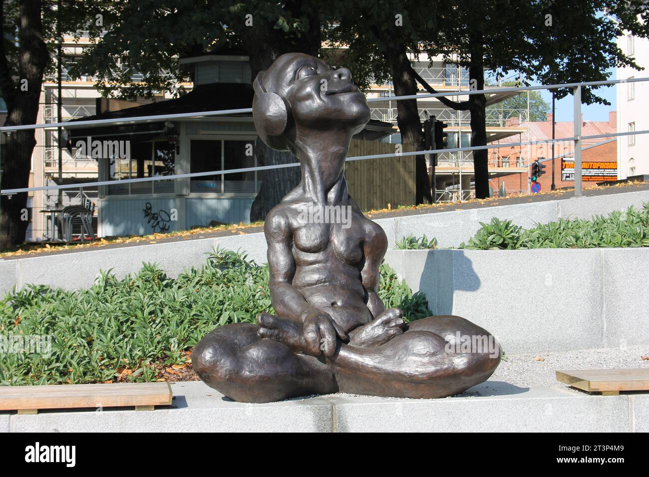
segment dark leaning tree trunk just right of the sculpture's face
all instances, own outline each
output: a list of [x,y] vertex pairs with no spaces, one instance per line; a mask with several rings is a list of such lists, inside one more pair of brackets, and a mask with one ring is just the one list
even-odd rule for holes
[[[417,94],[417,81],[412,75],[405,45],[389,41],[386,42],[386,45],[384,56],[390,67],[395,94],[397,96]],[[397,101],[397,125],[401,133],[401,143],[412,145],[415,151],[422,151],[424,134],[421,129],[416,99]],[[415,184],[415,203],[432,202],[428,167],[426,167],[426,158],[423,154],[416,156],[415,159]]]

